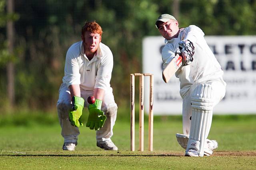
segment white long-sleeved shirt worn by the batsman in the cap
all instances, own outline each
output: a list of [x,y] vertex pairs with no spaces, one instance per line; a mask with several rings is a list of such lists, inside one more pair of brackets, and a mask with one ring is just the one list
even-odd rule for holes
[[180,95],[183,98],[192,84],[206,82],[215,78],[222,78],[223,70],[204,39],[204,32],[196,25],[190,25],[180,29],[177,38],[165,40],[166,45],[162,49],[164,67],[175,57],[175,51],[179,42],[188,39],[194,47],[194,60],[187,66],[180,67],[175,75],[180,79]]

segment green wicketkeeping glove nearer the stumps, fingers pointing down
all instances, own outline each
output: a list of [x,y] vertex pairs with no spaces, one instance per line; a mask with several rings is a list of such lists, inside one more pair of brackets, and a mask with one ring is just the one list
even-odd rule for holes
[[86,127],[90,129],[100,130],[106,121],[106,115],[101,111],[102,101],[96,99],[94,104],[89,104],[89,117],[86,123]]

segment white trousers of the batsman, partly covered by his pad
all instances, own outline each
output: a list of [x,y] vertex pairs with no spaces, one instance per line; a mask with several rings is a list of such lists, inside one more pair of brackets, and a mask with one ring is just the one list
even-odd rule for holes
[[[183,133],[186,135],[190,134],[191,127],[191,116],[192,116],[192,101],[191,96],[196,89],[196,87],[200,84],[209,84],[214,89],[214,95],[211,100],[213,100],[213,107],[216,106],[222,98],[224,98],[226,93],[226,82],[222,78],[216,78],[213,80],[208,80],[204,82],[195,82],[189,89],[189,91],[183,97],[182,103],[182,125],[183,125]],[[182,94],[181,94],[182,95]],[[212,120],[212,119],[211,119]],[[211,124],[211,121],[209,122]]]

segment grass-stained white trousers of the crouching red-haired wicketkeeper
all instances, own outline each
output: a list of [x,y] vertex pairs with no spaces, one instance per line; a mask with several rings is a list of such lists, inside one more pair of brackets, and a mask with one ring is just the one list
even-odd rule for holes
[[[88,108],[87,98],[88,96],[93,96],[93,90],[82,91],[81,97],[84,98],[84,108]],[[64,137],[64,142],[76,143],[78,140],[78,135],[80,134],[78,127],[74,127],[71,125],[69,121],[68,112],[71,108],[71,96],[70,90],[66,86],[66,84],[62,83],[59,90],[59,99],[57,102],[57,111],[58,117],[60,121],[60,126],[62,128],[61,135]],[[117,105],[114,101],[114,96],[112,93],[112,88],[109,88],[105,91],[105,96],[102,101],[102,111],[104,111],[107,119],[103,125],[103,127],[96,131],[96,140],[98,143],[103,143],[104,141],[110,141],[113,135],[113,127],[116,121],[117,114]],[[89,111],[87,112],[89,114]],[[86,122],[83,122],[84,126]],[[87,127],[86,127],[87,128]],[[88,129],[90,130],[90,129]]]

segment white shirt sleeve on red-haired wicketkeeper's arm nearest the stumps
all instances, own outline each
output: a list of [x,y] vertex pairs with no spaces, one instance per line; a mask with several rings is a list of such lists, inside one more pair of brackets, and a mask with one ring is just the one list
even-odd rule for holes
[[113,54],[110,50],[103,56],[98,66],[94,88],[106,90],[110,87],[111,74],[113,70]]

